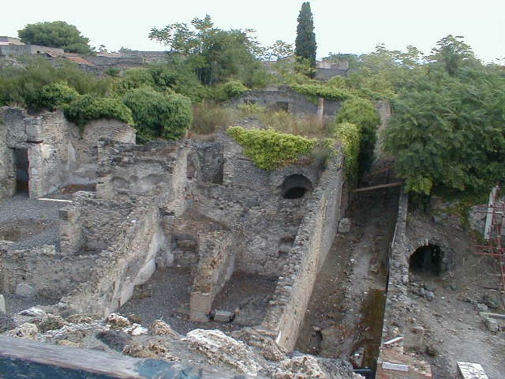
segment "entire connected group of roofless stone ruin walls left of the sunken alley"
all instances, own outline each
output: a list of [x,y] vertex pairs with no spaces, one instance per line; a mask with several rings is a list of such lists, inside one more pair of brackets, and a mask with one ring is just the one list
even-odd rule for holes
[[131,129],[112,121],[86,125],[81,137],[59,112],[30,118],[9,108],[4,120],[5,196],[14,193],[12,149],[20,147],[29,152],[30,197],[68,183],[96,183],[96,191],[61,207],[55,246],[0,243],[2,292],[23,285],[50,299],[51,312],[105,317],[155,272],[187,269],[188,318],[206,323],[240,309],[214,305],[234,275],[265,277],[274,283],[268,303],[237,322],[293,349],[345,206],[341,155],[269,172],[226,134],[137,146]]

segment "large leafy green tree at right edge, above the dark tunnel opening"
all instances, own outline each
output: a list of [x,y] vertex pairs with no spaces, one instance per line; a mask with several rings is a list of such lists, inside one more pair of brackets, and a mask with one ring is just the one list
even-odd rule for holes
[[407,191],[482,196],[505,180],[505,77],[467,68],[413,79],[393,104],[385,150]]

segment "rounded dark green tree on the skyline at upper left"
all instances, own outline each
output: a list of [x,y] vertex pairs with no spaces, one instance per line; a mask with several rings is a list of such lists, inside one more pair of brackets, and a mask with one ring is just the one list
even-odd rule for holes
[[61,48],[68,53],[91,54],[89,38],[65,21],[38,22],[18,30],[21,41],[34,45]]

